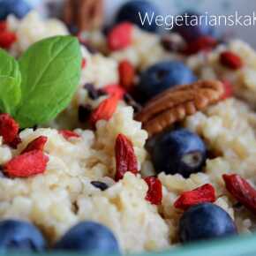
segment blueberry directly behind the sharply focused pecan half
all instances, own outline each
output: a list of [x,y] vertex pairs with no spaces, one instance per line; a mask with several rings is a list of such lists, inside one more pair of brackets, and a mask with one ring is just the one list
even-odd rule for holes
[[195,80],[193,72],[182,62],[165,61],[141,73],[137,94],[143,95],[142,102],[145,102],[169,87],[190,84]]

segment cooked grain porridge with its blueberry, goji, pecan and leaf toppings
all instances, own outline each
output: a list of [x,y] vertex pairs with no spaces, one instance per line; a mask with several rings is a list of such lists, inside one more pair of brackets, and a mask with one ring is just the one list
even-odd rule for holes
[[1,21],[1,250],[160,251],[254,230],[256,52],[121,18],[77,37],[36,11]]

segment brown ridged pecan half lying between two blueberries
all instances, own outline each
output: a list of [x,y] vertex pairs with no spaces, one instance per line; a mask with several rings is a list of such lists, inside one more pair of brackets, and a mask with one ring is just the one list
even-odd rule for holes
[[143,128],[152,136],[184,117],[219,102],[223,94],[222,82],[215,80],[170,88],[149,101],[135,119],[142,122]]

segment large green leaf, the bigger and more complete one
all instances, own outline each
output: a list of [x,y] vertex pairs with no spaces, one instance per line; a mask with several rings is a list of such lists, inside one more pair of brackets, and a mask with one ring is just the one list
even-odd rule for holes
[[19,59],[22,99],[16,120],[23,128],[43,124],[71,102],[80,79],[81,51],[72,36],[36,42]]

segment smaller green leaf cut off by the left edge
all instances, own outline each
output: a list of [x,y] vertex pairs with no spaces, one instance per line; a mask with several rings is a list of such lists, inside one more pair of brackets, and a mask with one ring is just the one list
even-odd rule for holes
[[14,114],[21,97],[19,64],[0,49],[0,111]]

